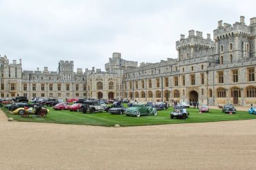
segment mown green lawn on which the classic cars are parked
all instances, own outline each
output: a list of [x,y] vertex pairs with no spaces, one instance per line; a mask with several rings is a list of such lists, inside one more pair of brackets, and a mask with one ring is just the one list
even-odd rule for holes
[[37,123],[63,123],[74,125],[100,125],[113,126],[119,124],[120,126],[139,126],[139,125],[163,125],[174,123],[203,123],[216,122],[226,120],[247,120],[255,119],[255,115],[248,114],[246,111],[237,111],[237,114],[223,114],[221,109],[211,109],[209,113],[199,114],[199,109],[188,109],[190,116],[186,120],[170,119],[170,112],[172,107],[167,111],[158,111],[157,116],[126,116],[126,115],[112,115],[103,111],[102,113],[82,114],[82,112],[74,111],[55,111],[51,107],[50,114],[46,118],[38,118],[35,115],[30,115],[28,118],[21,118],[19,115],[12,115],[10,112],[2,107],[8,117],[14,118],[18,121],[37,122]]

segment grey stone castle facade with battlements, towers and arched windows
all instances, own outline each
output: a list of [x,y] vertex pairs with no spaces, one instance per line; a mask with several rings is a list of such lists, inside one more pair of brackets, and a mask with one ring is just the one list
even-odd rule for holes
[[77,68],[60,61],[57,72],[22,71],[19,63],[1,57],[1,98],[130,98],[140,101],[172,101],[200,105],[256,104],[256,17],[250,25],[219,21],[206,39],[190,30],[176,41],[178,59],[159,63],[126,61],[113,53],[106,72]]

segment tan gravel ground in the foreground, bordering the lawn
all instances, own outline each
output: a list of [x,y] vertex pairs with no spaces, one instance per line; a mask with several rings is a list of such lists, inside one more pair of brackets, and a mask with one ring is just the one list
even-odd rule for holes
[[141,127],[8,122],[0,169],[255,169],[256,120]]

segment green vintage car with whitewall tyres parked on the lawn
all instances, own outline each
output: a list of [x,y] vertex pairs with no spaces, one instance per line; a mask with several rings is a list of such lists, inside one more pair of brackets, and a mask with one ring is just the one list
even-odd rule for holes
[[140,115],[149,115],[152,114],[154,116],[157,115],[157,109],[151,106],[147,106],[145,104],[134,104],[132,107],[127,108],[125,111],[126,116],[137,116]]

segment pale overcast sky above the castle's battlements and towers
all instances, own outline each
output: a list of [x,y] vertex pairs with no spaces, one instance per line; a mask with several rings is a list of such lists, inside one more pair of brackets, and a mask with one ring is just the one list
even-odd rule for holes
[[[23,70],[57,71],[59,61],[104,70],[113,52],[138,63],[177,58],[176,41],[188,30],[203,37],[217,22],[249,25],[255,0],[0,0],[0,54]],[[254,12],[253,12],[254,11]]]

